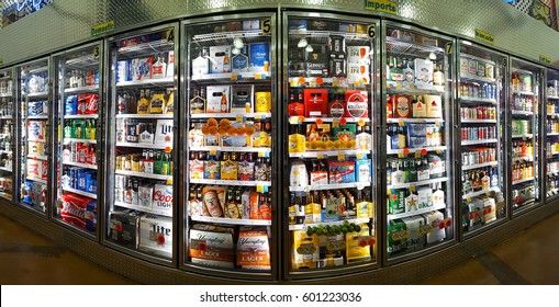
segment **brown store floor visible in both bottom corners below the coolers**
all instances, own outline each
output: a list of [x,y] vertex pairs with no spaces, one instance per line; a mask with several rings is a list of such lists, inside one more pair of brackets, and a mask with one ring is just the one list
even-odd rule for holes
[[[559,284],[559,214],[418,285]],[[0,215],[0,284],[134,284]]]

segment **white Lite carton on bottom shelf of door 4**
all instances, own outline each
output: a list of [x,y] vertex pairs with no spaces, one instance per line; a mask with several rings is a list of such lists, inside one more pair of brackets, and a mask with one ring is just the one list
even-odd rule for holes
[[172,218],[145,214],[139,218],[139,250],[172,257]]

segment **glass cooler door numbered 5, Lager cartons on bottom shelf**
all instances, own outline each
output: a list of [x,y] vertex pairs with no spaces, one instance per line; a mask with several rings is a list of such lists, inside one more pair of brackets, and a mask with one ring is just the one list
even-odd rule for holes
[[270,26],[269,16],[255,16],[186,27],[185,263],[271,272]]

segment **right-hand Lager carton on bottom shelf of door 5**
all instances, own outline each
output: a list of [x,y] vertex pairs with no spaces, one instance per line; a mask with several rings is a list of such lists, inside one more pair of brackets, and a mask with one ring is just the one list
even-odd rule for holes
[[237,265],[250,270],[270,270],[270,245],[266,227],[241,227]]

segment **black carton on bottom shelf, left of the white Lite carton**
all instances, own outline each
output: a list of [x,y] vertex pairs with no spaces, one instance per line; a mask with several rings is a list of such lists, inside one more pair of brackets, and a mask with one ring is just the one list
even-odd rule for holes
[[137,249],[139,215],[126,209],[109,214],[109,238],[120,246]]

